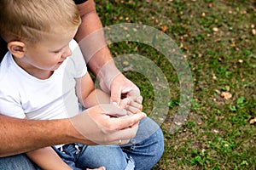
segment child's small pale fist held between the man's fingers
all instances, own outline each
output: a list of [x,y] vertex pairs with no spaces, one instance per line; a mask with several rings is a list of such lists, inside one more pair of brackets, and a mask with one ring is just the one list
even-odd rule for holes
[[128,97],[121,99],[120,107],[127,111],[128,115],[137,114],[143,111],[143,97]]

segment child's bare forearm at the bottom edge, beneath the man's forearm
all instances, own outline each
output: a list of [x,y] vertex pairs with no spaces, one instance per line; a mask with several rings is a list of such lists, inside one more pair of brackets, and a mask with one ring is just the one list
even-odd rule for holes
[[55,150],[51,147],[26,152],[26,156],[28,156],[38,165],[38,167],[41,167],[42,169],[72,170],[71,167],[68,167],[68,165],[61,160],[61,157],[58,156]]

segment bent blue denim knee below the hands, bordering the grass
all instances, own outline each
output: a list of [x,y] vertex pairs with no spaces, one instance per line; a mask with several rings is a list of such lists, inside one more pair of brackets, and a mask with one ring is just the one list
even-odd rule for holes
[[158,124],[147,117],[140,122],[136,137],[121,148],[135,161],[135,170],[149,170],[163,155],[164,135]]

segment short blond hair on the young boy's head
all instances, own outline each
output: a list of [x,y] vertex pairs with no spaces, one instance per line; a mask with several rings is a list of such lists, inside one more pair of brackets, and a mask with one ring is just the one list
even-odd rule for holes
[[72,31],[80,23],[73,0],[0,0],[0,33],[7,42],[39,42],[49,32]]

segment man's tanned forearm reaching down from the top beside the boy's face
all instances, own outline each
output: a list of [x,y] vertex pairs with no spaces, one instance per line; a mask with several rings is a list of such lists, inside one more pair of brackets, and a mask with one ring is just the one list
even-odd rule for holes
[[[90,8],[84,8],[84,6]],[[104,34],[102,30],[102,22],[96,14],[95,4],[92,0],[87,2],[87,5],[78,5],[82,24],[75,36],[75,40],[79,42],[79,46],[84,54],[87,65],[94,75],[98,75],[102,66],[111,62],[115,67],[113,58],[110,54],[108,46],[106,45]]]

